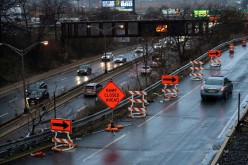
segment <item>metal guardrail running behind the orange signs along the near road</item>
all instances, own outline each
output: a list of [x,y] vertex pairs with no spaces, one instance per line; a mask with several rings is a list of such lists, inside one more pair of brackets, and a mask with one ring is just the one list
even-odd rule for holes
[[[225,49],[226,46],[228,46],[230,43],[240,42],[241,39],[242,38],[238,38],[238,39],[234,39],[234,40],[222,43],[222,44],[216,46],[215,48],[213,48],[213,50]],[[248,37],[246,37],[246,39],[248,39]],[[202,59],[206,58],[207,56],[208,56],[208,53],[204,53],[203,55],[198,57],[196,60],[202,60]],[[172,72],[170,75],[177,75],[180,72],[188,69],[190,66],[191,66],[191,64],[188,63],[188,64],[182,66],[181,68],[177,69],[176,71]],[[154,84],[152,84],[151,86],[147,87],[146,89],[144,89],[144,91],[150,92],[153,89],[159,87],[160,85],[161,85],[161,80],[156,82],[156,83],[154,83]],[[128,99],[130,99],[130,98],[131,97],[128,97],[128,98],[124,99],[123,101],[121,101],[115,110],[119,110],[121,107],[127,105],[128,104]],[[112,111],[110,111],[109,108],[106,108],[106,109],[104,109],[104,110],[102,110],[102,111],[100,111],[98,113],[95,113],[95,114],[93,114],[91,116],[88,116],[88,117],[82,118],[80,120],[74,121],[73,122],[73,129],[77,130],[82,126],[87,125],[89,122],[95,121],[95,120],[101,118],[102,116],[109,115],[110,113],[112,113]],[[27,147],[29,145],[34,145],[34,144],[38,144],[38,143],[41,143],[41,142],[45,142],[47,140],[51,140],[52,135],[53,135],[53,133],[50,130],[46,130],[42,134],[39,134],[39,135],[34,135],[34,136],[29,137],[29,138],[23,138],[23,139],[14,141],[14,142],[9,142],[9,143],[6,143],[6,144],[2,144],[2,145],[0,145],[0,157],[4,156],[6,153],[14,151],[16,149],[20,149],[20,148],[23,148],[23,147]]]

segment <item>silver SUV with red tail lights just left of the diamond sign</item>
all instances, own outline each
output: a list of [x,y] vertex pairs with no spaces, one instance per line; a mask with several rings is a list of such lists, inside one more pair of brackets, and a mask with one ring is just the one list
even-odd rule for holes
[[97,96],[98,92],[102,90],[102,84],[100,83],[89,83],[83,87],[83,95],[87,96]]

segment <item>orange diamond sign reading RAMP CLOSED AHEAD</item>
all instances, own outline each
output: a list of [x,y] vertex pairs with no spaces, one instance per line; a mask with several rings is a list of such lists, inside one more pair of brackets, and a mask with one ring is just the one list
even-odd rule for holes
[[114,82],[109,81],[108,84],[98,93],[98,97],[110,109],[114,109],[125,97],[125,93],[123,93]]

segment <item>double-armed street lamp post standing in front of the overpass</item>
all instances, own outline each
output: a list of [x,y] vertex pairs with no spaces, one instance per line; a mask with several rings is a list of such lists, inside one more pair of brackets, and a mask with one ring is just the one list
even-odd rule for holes
[[104,49],[105,49],[105,53],[104,53],[104,56],[105,56],[105,60],[104,60],[104,68],[105,68],[104,69],[104,73],[107,74],[108,73],[107,60],[106,60],[106,53],[107,53],[107,33],[109,31],[113,30],[116,27],[119,27],[119,28],[122,29],[124,26],[123,25],[117,25],[117,26],[113,26],[113,27],[111,27],[109,29],[106,29],[106,30],[103,30],[103,29],[101,29],[101,28],[99,28],[97,26],[91,26],[91,25],[88,25],[87,26],[87,28],[91,28],[91,27],[97,29],[100,33],[102,33],[102,35],[104,35],[104,42],[105,42],[105,44],[104,44]]

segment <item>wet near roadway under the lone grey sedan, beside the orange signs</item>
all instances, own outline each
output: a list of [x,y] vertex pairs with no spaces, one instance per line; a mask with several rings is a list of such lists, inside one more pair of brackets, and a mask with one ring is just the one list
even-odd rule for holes
[[[201,81],[189,76],[180,79],[178,97],[158,96],[150,103],[144,119],[124,117],[118,124],[126,127],[115,136],[108,132],[80,137],[78,148],[42,158],[27,157],[10,164],[31,165],[199,165],[210,164],[237,119],[238,93],[248,102],[248,48],[235,47],[234,55],[222,52],[221,68],[204,65],[205,77],[227,76],[234,83],[233,94],[225,101],[200,98]],[[116,80],[114,80],[116,81]],[[242,103],[243,104],[243,103]]]

